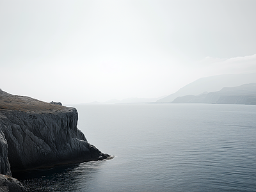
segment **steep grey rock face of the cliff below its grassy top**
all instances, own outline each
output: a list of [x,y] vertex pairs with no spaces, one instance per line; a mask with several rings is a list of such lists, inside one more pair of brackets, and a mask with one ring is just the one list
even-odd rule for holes
[[56,113],[8,111],[0,120],[8,141],[12,170],[52,166],[54,164],[96,160],[102,156],[90,152],[90,145],[77,125],[77,111],[67,108]]

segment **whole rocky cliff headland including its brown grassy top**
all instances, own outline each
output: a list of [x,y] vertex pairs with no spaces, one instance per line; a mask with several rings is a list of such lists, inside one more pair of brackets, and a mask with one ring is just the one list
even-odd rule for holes
[[1,173],[108,159],[77,129],[75,108],[0,91]]

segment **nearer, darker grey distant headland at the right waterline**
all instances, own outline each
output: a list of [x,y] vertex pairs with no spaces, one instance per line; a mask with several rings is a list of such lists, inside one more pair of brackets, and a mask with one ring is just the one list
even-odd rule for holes
[[172,103],[256,104],[256,83],[225,87],[219,92],[177,97]]

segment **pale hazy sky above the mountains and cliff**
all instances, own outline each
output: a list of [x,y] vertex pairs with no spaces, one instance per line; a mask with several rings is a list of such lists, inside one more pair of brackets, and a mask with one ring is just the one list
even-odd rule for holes
[[256,72],[256,1],[0,0],[0,88],[64,104]]

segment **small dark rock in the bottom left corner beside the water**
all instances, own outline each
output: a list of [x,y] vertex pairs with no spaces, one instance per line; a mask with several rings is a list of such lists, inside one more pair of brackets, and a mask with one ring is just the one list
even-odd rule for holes
[[0,174],[0,192],[25,192],[19,180],[14,179],[8,175]]

